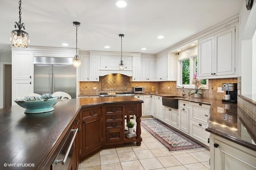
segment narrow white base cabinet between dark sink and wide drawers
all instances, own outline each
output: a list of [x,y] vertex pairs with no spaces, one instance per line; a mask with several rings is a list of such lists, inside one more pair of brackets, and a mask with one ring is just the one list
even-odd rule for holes
[[178,114],[179,114],[179,123],[178,128],[189,134],[189,108],[190,102],[185,102],[183,100],[178,101]]

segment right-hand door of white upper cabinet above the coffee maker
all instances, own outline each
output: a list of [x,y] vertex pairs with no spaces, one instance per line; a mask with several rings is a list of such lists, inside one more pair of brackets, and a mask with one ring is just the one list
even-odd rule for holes
[[235,27],[216,34],[214,46],[214,73],[217,76],[235,74]]

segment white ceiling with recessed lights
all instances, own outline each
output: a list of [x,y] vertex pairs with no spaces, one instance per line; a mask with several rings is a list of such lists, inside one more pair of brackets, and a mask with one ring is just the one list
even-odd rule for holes
[[[156,54],[239,13],[243,0],[22,0],[22,22],[30,46],[76,47],[80,51]],[[18,20],[18,0],[0,0],[0,50],[10,49],[10,32]],[[244,7],[245,8],[245,7]],[[163,35],[163,39],[157,39]],[[110,46],[105,49],[104,46]],[[141,50],[145,47],[146,50]]]

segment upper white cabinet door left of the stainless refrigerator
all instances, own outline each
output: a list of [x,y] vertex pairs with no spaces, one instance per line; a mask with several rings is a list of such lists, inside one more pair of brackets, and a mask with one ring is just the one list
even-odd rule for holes
[[30,51],[12,52],[13,79],[32,80],[33,56]]

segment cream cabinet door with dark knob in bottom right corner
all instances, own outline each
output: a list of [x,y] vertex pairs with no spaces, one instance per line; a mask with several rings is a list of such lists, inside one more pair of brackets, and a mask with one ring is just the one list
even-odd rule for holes
[[256,170],[256,152],[210,134],[211,170]]

